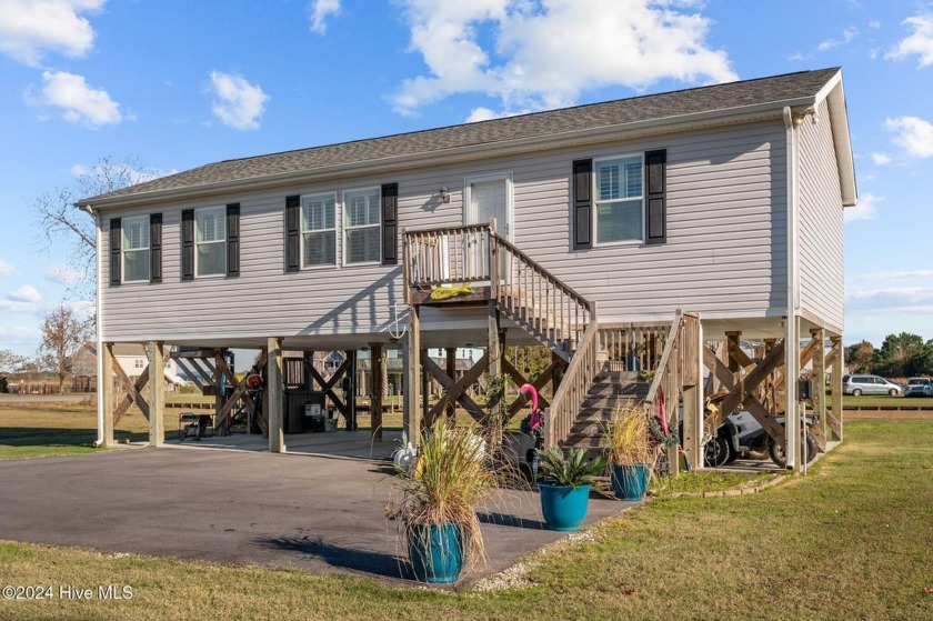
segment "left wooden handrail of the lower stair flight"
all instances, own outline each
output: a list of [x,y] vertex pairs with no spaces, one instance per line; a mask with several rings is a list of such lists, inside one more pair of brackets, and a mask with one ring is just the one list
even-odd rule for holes
[[599,352],[599,323],[595,319],[595,308],[592,310],[593,320],[583,332],[580,339],[580,347],[568,365],[564,377],[561,380],[558,392],[551,400],[551,405],[545,410],[546,425],[544,428],[545,448],[555,447],[570,437],[570,430],[576,419],[581,403],[585,399],[600,370]]

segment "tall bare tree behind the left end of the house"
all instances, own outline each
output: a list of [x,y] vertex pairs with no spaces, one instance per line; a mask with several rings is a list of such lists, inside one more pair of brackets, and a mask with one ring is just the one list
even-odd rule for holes
[[[94,221],[74,208],[79,199],[113,192],[154,179],[157,174],[142,167],[136,158],[113,161],[107,157],[92,169],[77,176],[72,186],[59,187],[36,197],[32,211],[42,230],[46,249],[64,242],[71,250],[69,264],[82,278],[73,287],[82,294],[93,291],[97,234]],[[87,297],[87,296],[83,296]]]

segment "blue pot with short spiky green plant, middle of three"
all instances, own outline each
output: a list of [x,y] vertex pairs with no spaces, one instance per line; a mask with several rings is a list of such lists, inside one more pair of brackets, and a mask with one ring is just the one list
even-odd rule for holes
[[605,468],[605,458],[590,459],[585,449],[564,452],[559,447],[538,450],[536,454],[544,524],[550,530],[580,530],[590,504],[590,485]]

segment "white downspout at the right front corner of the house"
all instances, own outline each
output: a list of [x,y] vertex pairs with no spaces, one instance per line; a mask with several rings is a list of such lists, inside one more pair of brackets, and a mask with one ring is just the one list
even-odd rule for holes
[[800,377],[800,330],[797,325],[797,169],[796,132],[790,106],[784,107],[784,129],[787,153],[787,314],[784,341],[784,457],[786,468],[800,471],[800,420],[797,419],[797,378]]

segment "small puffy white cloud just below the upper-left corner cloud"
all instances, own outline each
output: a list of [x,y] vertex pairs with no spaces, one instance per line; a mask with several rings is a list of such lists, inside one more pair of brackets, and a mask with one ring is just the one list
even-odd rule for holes
[[28,91],[27,102],[59,108],[62,118],[70,123],[97,129],[123,120],[120,104],[110,99],[107,91],[89,87],[83,76],[43,71],[42,82],[41,94],[33,97]]

